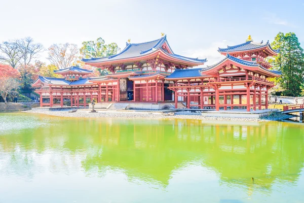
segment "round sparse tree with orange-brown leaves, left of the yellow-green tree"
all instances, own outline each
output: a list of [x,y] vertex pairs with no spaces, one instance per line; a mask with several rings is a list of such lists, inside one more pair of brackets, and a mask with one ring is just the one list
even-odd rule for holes
[[65,69],[71,65],[75,65],[79,58],[79,50],[75,44],[53,44],[49,47],[48,59],[58,69]]

